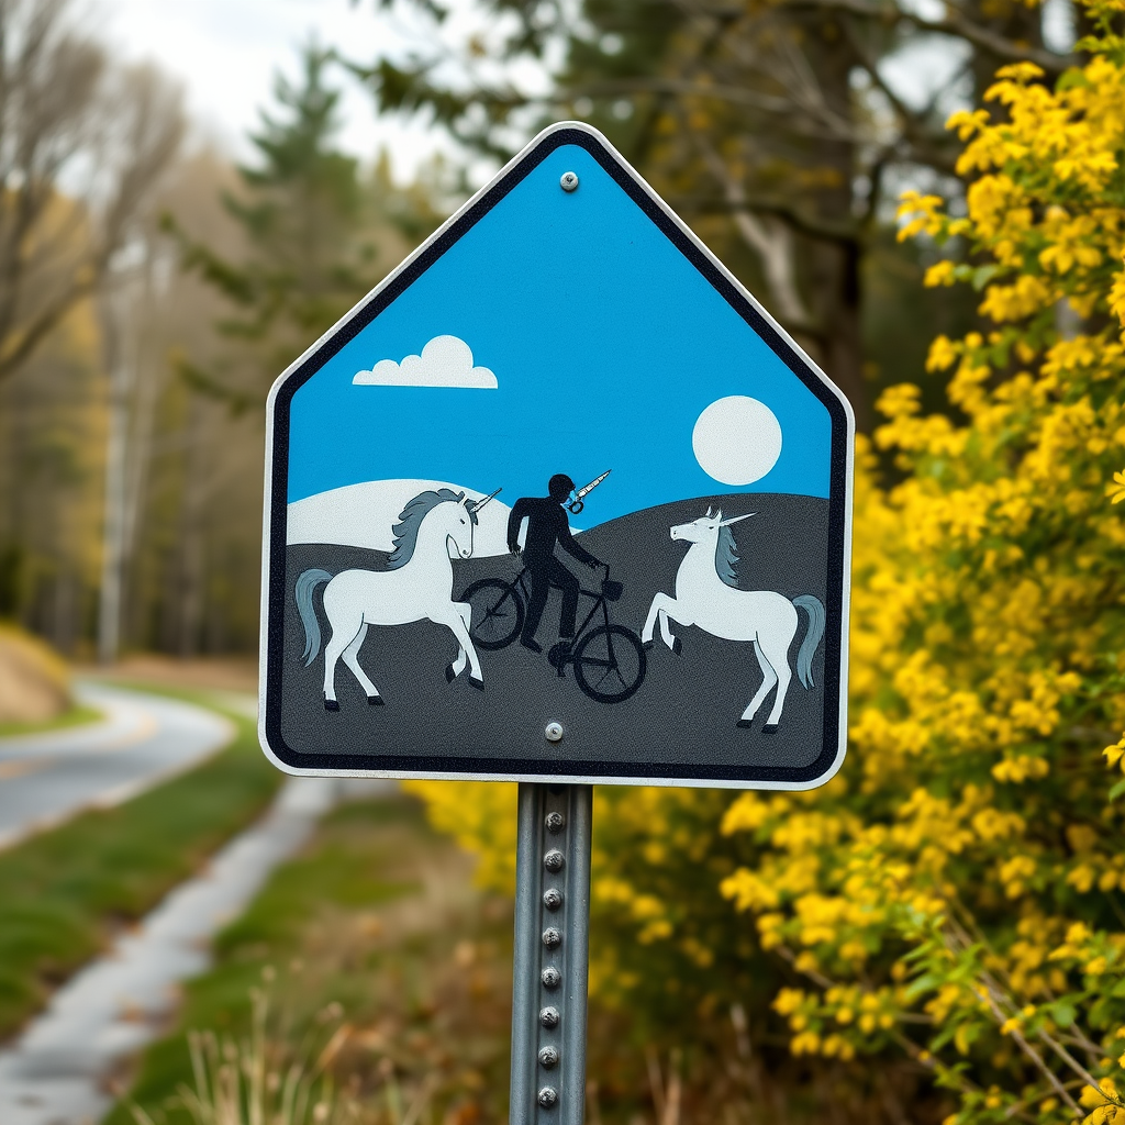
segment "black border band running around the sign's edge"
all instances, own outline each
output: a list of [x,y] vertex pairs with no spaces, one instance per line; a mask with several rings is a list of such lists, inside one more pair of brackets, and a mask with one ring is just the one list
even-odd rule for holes
[[[363,331],[384,309],[402,296],[434,262],[438,261],[471,227],[488,214],[513,188],[529,176],[556,148],[577,145],[584,148],[613,178],[630,199],[651,219],[657,228],[711,284],[722,298],[766,342],[771,350],[804,384],[828,410],[831,418],[831,458],[828,489],[828,579],[825,629],[825,732],[820,755],[807,766],[752,766],[745,772],[727,767],[685,762],[674,770],[667,763],[638,762],[555,762],[566,767],[558,775],[548,768],[547,758],[470,758],[417,754],[308,754],[294,750],[281,736],[281,682],[285,659],[284,612],[286,598],[286,547],[288,512],[289,410],[292,396],[350,340]],[[831,706],[839,699],[840,672],[844,667],[842,647],[845,644],[844,609],[848,596],[846,551],[850,515],[850,425],[848,412],[839,393],[826,385],[820,375],[794,350],[792,344],[749,302],[739,287],[714,261],[685,234],[684,230],[662,206],[646,186],[623,166],[621,159],[600,138],[585,128],[560,127],[548,132],[516,159],[507,171],[484,191],[471,206],[441,230],[415,258],[364,304],[349,314],[300,364],[276,388],[272,402],[272,430],[267,433],[270,444],[268,595],[263,610],[267,623],[263,634],[266,656],[264,716],[261,722],[263,748],[279,764],[299,773],[379,773],[402,776],[441,775],[444,777],[493,777],[497,781],[558,776],[570,778],[613,778],[626,784],[745,785],[764,784],[783,789],[811,788],[827,780],[842,760],[839,724],[846,714],[843,706]],[[268,634],[268,636],[267,636]],[[277,685],[271,688],[271,685]],[[685,750],[687,748],[685,747]],[[557,754],[558,752],[555,750]]]

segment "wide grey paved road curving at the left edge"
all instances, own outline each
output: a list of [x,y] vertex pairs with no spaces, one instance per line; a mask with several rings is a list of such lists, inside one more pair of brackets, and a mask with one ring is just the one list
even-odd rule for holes
[[0,738],[0,848],[84,808],[108,808],[195,765],[230,741],[214,711],[105,684],[78,698],[105,720]]

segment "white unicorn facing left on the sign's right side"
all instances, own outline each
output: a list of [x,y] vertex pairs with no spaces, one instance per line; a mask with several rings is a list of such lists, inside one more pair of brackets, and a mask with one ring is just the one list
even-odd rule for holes
[[825,608],[811,594],[801,594],[790,601],[784,594],[768,590],[744,591],[735,586],[735,552],[732,523],[748,520],[750,515],[738,515],[723,520],[722,512],[681,523],[672,529],[673,539],[686,540],[692,546],[676,572],[676,596],[657,594],[648,611],[648,620],[641,640],[646,648],[652,645],[652,629],[660,622],[664,644],[676,656],[681,651],[678,637],[672,636],[669,619],[682,626],[699,626],[713,637],[724,640],[747,640],[754,642],[754,651],[762,666],[762,686],[754,693],[739,727],[749,727],[765,698],[777,687],[773,710],[762,730],[773,734],[781,720],[781,709],[785,705],[785,693],[792,680],[789,667],[789,647],[793,644],[798,627],[798,608],[809,614],[809,629],[796,654],[796,674],[804,687],[812,686],[812,657],[825,631]]

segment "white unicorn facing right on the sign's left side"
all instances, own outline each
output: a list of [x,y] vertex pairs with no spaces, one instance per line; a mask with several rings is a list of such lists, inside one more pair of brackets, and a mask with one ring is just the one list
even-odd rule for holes
[[[500,489],[497,489],[498,492]],[[496,493],[493,493],[495,496]],[[480,662],[469,639],[471,608],[453,601],[451,554],[462,559],[472,555],[472,529],[477,513],[492,500],[466,501],[465,493],[439,488],[415,496],[403,508],[395,533],[394,550],[386,570],[342,570],[333,577],[327,570],[305,570],[297,578],[296,598],[305,626],[307,668],[321,649],[321,626],[313,604],[313,592],[324,588],[324,613],[332,634],[324,646],[324,706],[339,711],[336,701],[336,662],[354,673],[371,706],[382,706],[384,699],[360,666],[359,650],[369,626],[404,626],[429,618],[447,626],[457,638],[457,658],[446,669],[452,683],[469,665],[469,683],[484,691]]]

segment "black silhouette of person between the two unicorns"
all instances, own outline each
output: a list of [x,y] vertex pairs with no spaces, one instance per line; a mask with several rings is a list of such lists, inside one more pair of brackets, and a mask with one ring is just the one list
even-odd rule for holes
[[533,652],[542,648],[536,640],[539,621],[547,604],[551,586],[562,591],[562,609],[559,614],[559,637],[574,638],[575,616],[578,612],[578,579],[559,561],[555,548],[561,547],[579,562],[591,569],[602,564],[585,550],[574,536],[564,504],[575,490],[574,482],[565,472],[556,472],[548,482],[546,496],[524,496],[512,507],[507,520],[507,546],[513,555],[520,551],[520,525],[528,521],[528,534],[523,546],[523,561],[531,574],[531,597],[528,600],[528,615],[523,621],[520,644]]

